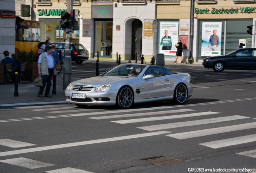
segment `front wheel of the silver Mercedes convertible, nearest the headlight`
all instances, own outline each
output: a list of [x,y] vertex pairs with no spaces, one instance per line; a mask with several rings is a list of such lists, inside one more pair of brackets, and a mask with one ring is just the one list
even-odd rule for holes
[[118,91],[116,98],[116,105],[122,109],[128,109],[132,106],[134,101],[133,92],[130,87],[122,87]]

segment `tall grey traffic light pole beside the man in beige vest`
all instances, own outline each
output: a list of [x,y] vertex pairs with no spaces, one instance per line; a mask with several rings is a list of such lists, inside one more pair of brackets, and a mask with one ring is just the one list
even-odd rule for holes
[[[67,12],[70,13],[73,11],[73,0],[67,0]],[[64,64],[63,64],[63,90],[68,87],[68,84],[71,82],[71,65],[72,65],[72,58],[71,58],[71,38],[72,38],[72,30],[71,30],[71,18],[70,17],[70,26],[68,27],[66,32],[66,46],[65,46],[65,56],[64,56]]]

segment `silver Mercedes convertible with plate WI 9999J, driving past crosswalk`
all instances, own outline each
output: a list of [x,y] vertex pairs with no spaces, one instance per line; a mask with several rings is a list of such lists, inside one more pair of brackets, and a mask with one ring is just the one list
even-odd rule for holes
[[171,72],[163,66],[121,64],[100,76],[71,82],[65,91],[66,102],[78,107],[117,105],[122,109],[134,103],[173,101],[181,104],[192,96],[192,77]]

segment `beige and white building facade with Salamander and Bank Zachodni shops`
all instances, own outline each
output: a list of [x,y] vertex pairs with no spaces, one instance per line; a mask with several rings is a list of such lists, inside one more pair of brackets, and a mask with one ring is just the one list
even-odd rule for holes
[[[60,14],[67,9],[67,1],[34,0],[32,4],[32,19],[41,24],[40,40],[64,42]],[[150,61],[164,54],[165,60],[174,60],[175,44],[181,39],[188,63],[192,38],[194,62],[231,52],[240,42],[255,47],[255,0],[196,0],[194,8],[190,0],[74,0],[73,9],[79,13],[72,42],[83,44],[90,58],[116,59],[118,54],[122,60],[139,60],[143,55]],[[194,32],[190,32],[191,23]],[[246,31],[252,25],[251,35]],[[210,49],[214,30],[219,42]]]

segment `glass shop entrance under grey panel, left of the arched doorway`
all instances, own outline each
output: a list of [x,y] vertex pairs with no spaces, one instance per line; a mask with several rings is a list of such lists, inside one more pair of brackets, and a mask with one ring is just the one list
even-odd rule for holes
[[94,55],[101,58],[112,58],[112,21],[95,21]]

